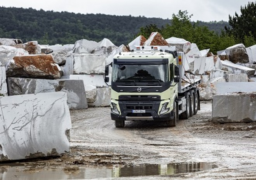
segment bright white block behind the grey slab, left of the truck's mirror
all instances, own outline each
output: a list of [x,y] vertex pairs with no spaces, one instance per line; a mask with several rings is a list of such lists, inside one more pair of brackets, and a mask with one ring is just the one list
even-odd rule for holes
[[104,81],[104,75],[68,75],[64,79],[81,79],[84,85],[93,85],[95,87],[108,87]]

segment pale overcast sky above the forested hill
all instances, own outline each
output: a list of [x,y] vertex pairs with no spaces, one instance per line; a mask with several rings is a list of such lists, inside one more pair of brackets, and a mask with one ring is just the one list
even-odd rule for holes
[[0,6],[67,11],[81,14],[132,15],[171,19],[179,10],[193,14],[192,21],[228,21],[240,14],[248,0],[0,0]]

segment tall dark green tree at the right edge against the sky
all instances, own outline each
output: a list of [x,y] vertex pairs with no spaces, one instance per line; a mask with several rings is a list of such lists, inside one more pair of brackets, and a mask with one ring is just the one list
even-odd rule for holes
[[[248,2],[245,7],[240,7],[241,15],[235,12],[232,17],[229,15],[230,27],[225,27],[229,35],[233,35],[238,41],[245,44],[248,38],[256,40],[256,3]],[[251,41],[251,40],[250,40]],[[247,42],[248,43],[248,42]]]

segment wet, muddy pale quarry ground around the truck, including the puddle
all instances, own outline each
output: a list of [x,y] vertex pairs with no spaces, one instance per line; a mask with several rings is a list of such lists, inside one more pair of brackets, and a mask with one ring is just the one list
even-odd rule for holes
[[109,107],[70,113],[71,152],[3,164],[0,179],[256,179],[256,123],[214,124],[211,102],[176,127],[145,121],[116,128]]

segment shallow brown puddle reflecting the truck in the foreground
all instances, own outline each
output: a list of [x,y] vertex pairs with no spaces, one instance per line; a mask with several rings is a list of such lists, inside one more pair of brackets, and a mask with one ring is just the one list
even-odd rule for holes
[[0,180],[10,179],[90,179],[112,177],[137,177],[150,175],[171,175],[178,173],[193,173],[216,168],[212,163],[173,163],[166,165],[141,164],[132,166],[115,166],[113,168],[88,168],[70,166],[67,168],[52,168],[40,165],[2,165]]

